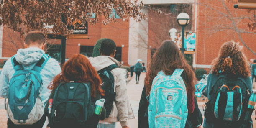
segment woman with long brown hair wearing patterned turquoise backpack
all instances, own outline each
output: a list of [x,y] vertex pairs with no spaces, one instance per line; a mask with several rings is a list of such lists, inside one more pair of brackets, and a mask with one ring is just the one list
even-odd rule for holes
[[195,108],[195,79],[177,45],[164,41],[152,57],[145,80],[149,128],[185,127]]

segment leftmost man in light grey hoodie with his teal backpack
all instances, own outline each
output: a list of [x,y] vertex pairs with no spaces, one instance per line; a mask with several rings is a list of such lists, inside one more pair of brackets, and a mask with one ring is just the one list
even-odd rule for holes
[[0,95],[5,97],[8,128],[42,128],[48,84],[61,72],[59,63],[45,54],[46,37],[31,31],[25,49],[8,59],[0,75]]

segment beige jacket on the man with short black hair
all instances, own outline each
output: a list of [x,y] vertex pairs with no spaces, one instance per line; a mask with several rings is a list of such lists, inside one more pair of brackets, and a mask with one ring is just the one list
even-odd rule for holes
[[[116,64],[121,67],[119,61],[110,56],[97,56],[88,58],[93,67],[97,71],[108,67],[112,64]],[[126,89],[126,79],[120,68],[115,68],[111,71],[115,79],[115,102],[113,102],[113,108],[108,118],[103,121],[108,122],[118,122],[120,121],[121,126],[128,125],[128,119],[134,119],[133,110],[131,104],[128,100],[127,89]]]

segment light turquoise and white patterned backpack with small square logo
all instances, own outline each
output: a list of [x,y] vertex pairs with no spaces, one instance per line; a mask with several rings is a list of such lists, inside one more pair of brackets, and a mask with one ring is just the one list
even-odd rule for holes
[[187,121],[187,91],[181,77],[183,69],[171,76],[160,71],[149,96],[149,128],[184,128]]

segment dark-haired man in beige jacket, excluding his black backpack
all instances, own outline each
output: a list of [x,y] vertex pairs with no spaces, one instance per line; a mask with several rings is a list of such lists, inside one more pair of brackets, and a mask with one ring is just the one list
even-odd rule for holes
[[[95,67],[96,71],[100,71],[105,67],[112,64],[116,64],[121,67],[119,61],[114,59],[116,45],[111,39],[105,39],[102,41],[100,47],[101,56],[89,57],[89,61],[92,66]],[[97,128],[115,128],[116,122],[120,122],[122,128],[128,128],[128,119],[133,119],[133,110],[131,109],[131,104],[128,100],[127,90],[126,90],[126,79],[123,76],[122,70],[120,68],[115,68],[111,70],[114,77],[115,85],[115,100],[113,102],[113,108],[110,112],[108,118],[105,120],[100,120]]]

